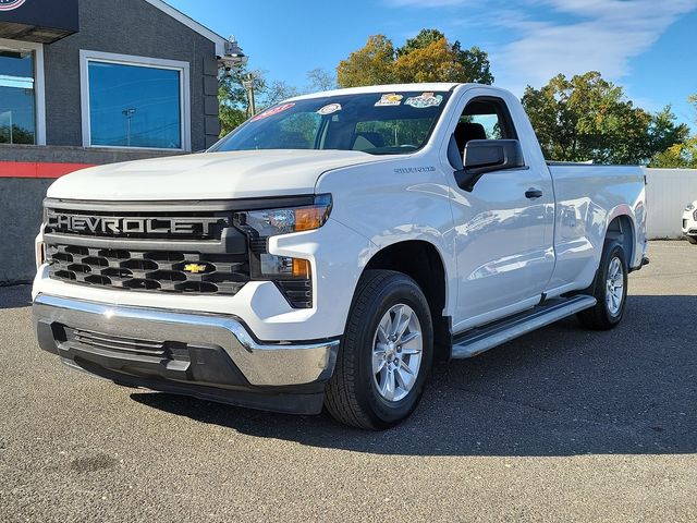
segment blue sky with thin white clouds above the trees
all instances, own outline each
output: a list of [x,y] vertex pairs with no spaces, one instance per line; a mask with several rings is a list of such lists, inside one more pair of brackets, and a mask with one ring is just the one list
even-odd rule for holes
[[494,85],[521,96],[558,73],[600,71],[650,111],[670,104],[697,130],[697,0],[167,0],[234,35],[249,68],[303,88],[315,68],[383,34],[395,47],[438,28],[489,53]]

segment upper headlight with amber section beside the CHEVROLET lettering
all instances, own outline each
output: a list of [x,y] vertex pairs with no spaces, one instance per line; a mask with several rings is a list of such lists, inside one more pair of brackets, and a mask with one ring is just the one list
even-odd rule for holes
[[260,238],[311,231],[322,227],[331,212],[331,195],[315,197],[313,205],[286,209],[249,210],[237,215],[242,227],[252,228]]

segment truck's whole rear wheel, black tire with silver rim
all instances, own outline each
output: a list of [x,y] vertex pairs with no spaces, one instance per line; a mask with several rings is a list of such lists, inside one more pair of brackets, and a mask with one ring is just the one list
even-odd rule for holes
[[628,267],[622,244],[606,242],[590,293],[598,301],[595,307],[578,313],[580,323],[590,329],[616,327],[624,316],[627,297]]

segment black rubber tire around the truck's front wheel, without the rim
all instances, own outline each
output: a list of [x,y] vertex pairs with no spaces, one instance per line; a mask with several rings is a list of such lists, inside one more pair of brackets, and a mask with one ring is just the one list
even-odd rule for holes
[[[416,380],[400,401],[378,391],[372,374],[374,340],[379,321],[392,307],[408,305],[420,324],[423,351]],[[412,414],[424,391],[433,354],[433,327],[428,302],[408,276],[391,270],[366,270],[346,321],[334,374],[327,385],[325,405],[339,422],[370,430],[392,427]],[[404,356],[402,356],[404,357]]]

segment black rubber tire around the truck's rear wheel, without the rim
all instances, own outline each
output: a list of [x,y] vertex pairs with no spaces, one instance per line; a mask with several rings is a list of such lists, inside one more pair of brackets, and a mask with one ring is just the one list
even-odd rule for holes
[[[619,259],[622,267],[622,300],[619,309],[612,311],[607,300],[609,292],[607,282],[610,266],[615,258]],[[577,315],[584,327],[594,330],[609,330],[615,328],[622,321],[627,301],[628,273],[627,260],[622,244],[616,241],[606,241],[598,272],[596,272],[592,284],[588,288],[588,294],[598,300],[598,303],[595,307],[582,311]]]

